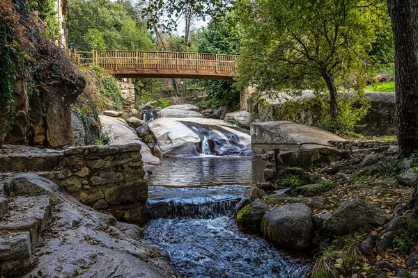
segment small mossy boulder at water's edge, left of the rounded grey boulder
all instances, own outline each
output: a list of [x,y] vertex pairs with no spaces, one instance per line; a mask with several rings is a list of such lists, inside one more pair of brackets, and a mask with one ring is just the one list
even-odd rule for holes
[[268,204],[262,199],[257,199],[237,214],[238,225],[243,231],[260,233],[261,220],[266,212]]

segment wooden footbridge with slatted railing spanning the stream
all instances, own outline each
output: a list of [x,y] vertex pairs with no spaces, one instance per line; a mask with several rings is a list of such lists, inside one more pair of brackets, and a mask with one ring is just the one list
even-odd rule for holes
[[69,51],[77,64],[95,64],[122,78],[232,80],[237,55],[163,51]]

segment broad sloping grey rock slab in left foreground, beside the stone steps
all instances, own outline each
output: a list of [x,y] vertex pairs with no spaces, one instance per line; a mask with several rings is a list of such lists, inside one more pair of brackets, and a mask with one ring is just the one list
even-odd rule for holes
[[[85,206],[54,207],[52,234],[36,253],[45,277],[177,277],[162,250],[141,242],[141,229]],[[75,275],[77,273],[77,275]]]

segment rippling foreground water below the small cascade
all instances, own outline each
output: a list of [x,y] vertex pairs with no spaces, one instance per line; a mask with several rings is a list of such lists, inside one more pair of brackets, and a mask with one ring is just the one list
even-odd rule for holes
[[163,247],[183,277],[306,277],[308,268],[262,238],[238,231],[233,218],[158,219],[146,240]]

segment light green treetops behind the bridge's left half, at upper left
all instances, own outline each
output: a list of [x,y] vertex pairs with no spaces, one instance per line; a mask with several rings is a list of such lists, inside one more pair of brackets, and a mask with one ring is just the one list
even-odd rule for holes
[[156,50],[145,22],[129,1],[68,1],[68,42],[71,48]]

